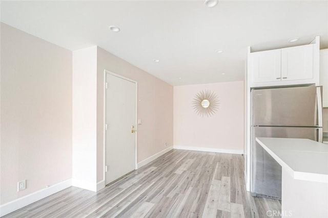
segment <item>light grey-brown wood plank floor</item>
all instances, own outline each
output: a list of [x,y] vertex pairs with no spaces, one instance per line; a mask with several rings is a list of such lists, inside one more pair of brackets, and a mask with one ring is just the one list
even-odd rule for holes
[[97,193],[70,187],[5,217],[262,218],[280,211],[280,201],[246,191],[243,171],[241,155],[172,150]]

